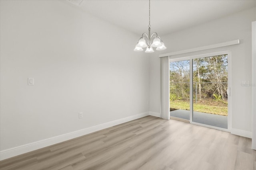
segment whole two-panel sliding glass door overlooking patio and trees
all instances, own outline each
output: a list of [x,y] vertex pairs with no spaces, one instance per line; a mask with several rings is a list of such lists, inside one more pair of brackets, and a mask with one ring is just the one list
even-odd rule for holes
[[170,59],[170,116],[228,129],[228,54]]

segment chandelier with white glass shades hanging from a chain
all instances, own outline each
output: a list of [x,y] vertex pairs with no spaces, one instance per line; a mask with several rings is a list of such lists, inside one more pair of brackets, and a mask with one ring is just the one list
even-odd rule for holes
[[[156,47],[156,50],[165,50],[166,47],[164,46],[164,43],[161,39],[161,37],[159,37],[157,35],[156,32],[152,33],[152,35],[150,35],[150,0],[149,0],[149,23],[148,23],[148,35],[146,33],[142,33],[142,36],[139,39],[139,42],[137,43],[137,45],[135,46],[134,51],[143,51],[142,48],[146,48],[145,53],[153,53],[154,50],[152,47]],[[153,41],[153,42],[152,42]]]

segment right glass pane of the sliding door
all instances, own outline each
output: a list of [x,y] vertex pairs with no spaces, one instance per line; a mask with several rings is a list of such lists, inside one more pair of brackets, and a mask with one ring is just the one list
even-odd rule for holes
[[193,122],[228,129],[228,55],[193,64]]

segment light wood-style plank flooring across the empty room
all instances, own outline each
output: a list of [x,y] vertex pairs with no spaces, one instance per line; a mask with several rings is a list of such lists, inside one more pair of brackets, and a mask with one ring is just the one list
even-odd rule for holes
[[2,160],[1,170],[256,170],[251,139],[147,116]]

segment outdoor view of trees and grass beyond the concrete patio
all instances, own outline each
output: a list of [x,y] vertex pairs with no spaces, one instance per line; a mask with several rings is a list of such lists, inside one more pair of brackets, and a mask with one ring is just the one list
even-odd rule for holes
[[[228,56],[193,59],[193,110],[228,114]],[[170,63],[170,111],[190,109],[190,61]]]

